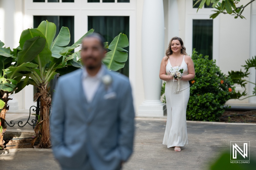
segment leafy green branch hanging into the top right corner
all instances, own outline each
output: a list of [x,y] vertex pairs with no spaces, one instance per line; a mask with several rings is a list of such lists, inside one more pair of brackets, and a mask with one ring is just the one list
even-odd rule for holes
[[248,2],[246,5],[240,5],[240,6],[238,6],[240,0],[222,0],[221,3],[220,3],[220,0],[194,0],[194,1],[196,1],[194,6],[200,3],[197,11],[199,10],[199,8],[202,9],[204,4],[209,6],[212,3],[212,7],[215,8],[216,10],[214,10],[215,13],[210,15],[210,18],[216,18],[220,13],[223,13],[223,14],[235,15],[235,18],[240,17],[243,19],[244,16],[242,15],[242,13],[244,11],[244,8],[255,0]]

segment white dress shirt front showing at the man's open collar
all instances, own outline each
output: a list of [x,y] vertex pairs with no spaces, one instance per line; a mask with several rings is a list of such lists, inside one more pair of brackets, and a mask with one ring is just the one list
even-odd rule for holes
[[88,102],[91,102],[97,89],[100,85],[101,78],[103,76],[103,68],[100,67],[99,72],[95,76],[90,76],[86,69],[83,69],[82,84],[84,88],[84,93]]

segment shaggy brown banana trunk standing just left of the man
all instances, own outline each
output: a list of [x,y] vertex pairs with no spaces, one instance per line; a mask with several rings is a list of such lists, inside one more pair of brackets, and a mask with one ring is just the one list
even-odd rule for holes
[[51,134],[50,134],[50,107],[51,107],[51,96],[48,93],[47,85],[42,85],[40,88],[40,121],[42,122],[41,129],[41,141],[40,146],[42,148],[51,147]]

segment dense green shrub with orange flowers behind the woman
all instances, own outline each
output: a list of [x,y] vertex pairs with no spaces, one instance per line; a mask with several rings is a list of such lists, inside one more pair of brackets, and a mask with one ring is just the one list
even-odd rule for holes
[[236,93],[234,84],[208,56],[198,55],[194,49],[192,60],[196,76],[189,81],[187,120],[218,121],[226,101]]

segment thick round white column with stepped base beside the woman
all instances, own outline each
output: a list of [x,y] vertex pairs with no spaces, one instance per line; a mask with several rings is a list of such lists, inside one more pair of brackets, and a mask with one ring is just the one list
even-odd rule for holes
[[163,0],[144,0],[142,14],[142,74],[145,100],[139,116],[163,116],[166,106],[160,101],[162,80],[160,63],[164,57]]

